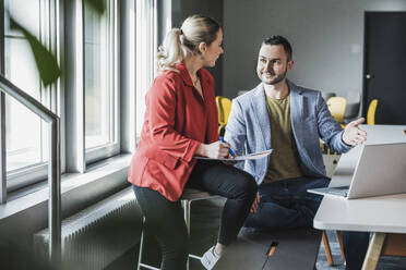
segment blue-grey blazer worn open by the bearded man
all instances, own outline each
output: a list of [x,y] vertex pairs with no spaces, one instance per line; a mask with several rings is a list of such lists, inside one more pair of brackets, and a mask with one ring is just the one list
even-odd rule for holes
[[[325,168],[320,148],[321,137],[332,150],[346,152],[351,147],[342,140],[343,128],[331,115],[327,105],[318,90],[307,89],[287,81],[290,90],[291,127],[306,176],[323,177]],[[271,125],[262,83],[232,100],[226,126],[226,142],[237,155],[271,149]],[[265,177],[268,157],[239,162],[261,184]]]

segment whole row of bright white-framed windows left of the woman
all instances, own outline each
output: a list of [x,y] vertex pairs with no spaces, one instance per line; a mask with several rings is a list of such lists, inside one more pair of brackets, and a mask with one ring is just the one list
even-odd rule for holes
[[[24,35],[0,29],[4,76],[61,118],[64,172],[85,172],[88,163],[134,150],[155,75],[157,5],[170,10],[163,0],[104,2],[99,14],[85,0],[4,0],[4,10],[64,63],[65,76],[45,87]],[[13,98],[5,103],[10,192],[47,177],[48,125]]]

